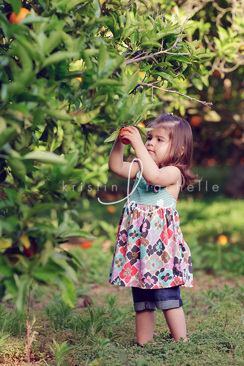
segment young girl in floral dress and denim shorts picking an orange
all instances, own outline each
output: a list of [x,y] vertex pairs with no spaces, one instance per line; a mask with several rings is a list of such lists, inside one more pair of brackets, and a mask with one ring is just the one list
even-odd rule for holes
[[192,133],[189,123],[166,113],[148,132],[145,145],[138,129],[125,128],[136,161],[123,161],[117,140],[109,169],[136,179],[118,229],[109,282],[132,287],[137,344],[153,339],[156,307],[163,310],[175,341],[186,338],[180,286],[193,287],[191,254],[183,240],[176,202],[180,189],[196,182],[191,172]]

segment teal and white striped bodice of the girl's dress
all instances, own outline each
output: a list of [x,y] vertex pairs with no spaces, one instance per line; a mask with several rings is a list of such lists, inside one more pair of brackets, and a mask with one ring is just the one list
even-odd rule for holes
[[138,169],[132,194],[128,199],[129,203],[176,208],[176,200],[167,191],[166,187],[148,185],[144,178],[139,178],[139,176],[140,170]]

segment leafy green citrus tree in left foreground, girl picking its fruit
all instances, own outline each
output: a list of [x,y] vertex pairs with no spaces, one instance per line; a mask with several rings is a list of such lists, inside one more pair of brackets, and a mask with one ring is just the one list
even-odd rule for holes
[[0,297],[22,308],[35,280],[56,283],[74,306],[82,263],[60,244],[93,238],[72,186],[104,179],[104,158],[97,170],[86,163],[94,137],[103,146],[111,130],[146,118],[156,89],[172,92],[209,56],[201,41],[184,39],[187,9],[172,22],[139,15],[131,0],[0,7]]

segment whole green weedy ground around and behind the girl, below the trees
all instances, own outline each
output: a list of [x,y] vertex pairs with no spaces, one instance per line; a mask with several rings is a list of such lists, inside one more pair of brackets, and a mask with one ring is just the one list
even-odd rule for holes
[[[240,216],[244,203],[221,196],[209,202],[191,196],[179,201],[177,209],[191,248],[195,278],[194,288],[182,288],[190,342],[175,343],[158,310],[154,340],[144,348],[134,346],[130,288],[107,283],[122,208],[114,207],[115,212],[104,211],[96,200],[83,199],[81,219],[97,239],[83,247],[78,241],[76,249],[73,244],[63,246],[76,250],[83,264],[75,286],[75,309],[63,303],[55,284],[47,287],[34,282],[29,324],[34,314],[36,323],[29,341],[37,333],[29,343],[32,365],[244,365],[244,229]],[[228,239],[224,246],[218,243],[219,235]],[[1,365],[27,365],[26,320],[26,310],[19,313],[11,302],[1,305]]]

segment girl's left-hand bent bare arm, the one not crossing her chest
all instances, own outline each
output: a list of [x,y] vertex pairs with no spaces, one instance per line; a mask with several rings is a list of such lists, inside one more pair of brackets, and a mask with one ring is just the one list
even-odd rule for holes
[[124,144],[117,138],[111,150],[108,160],[109,169],[116,175],[125,179],[135,179],[138,163],[127,163],[123,161]]

